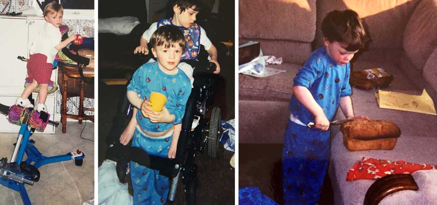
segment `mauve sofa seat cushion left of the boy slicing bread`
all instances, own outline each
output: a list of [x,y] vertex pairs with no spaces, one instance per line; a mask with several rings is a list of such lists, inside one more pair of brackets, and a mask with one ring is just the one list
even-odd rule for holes
[[238,74],[238,96],[240,100],[287,102],[290,100],[293,79],[302,65],[283,63],[281,65],[267,65],[267,67],[286,70],[286,72],[266,78]]

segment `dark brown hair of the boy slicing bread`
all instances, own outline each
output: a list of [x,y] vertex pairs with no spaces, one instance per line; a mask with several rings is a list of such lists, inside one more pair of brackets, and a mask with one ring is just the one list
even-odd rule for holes
[[346,44],[347,51],[363,49],[369,40],[363,22],[353,10],[329,12],[323,18],[322,32],[329,42]]

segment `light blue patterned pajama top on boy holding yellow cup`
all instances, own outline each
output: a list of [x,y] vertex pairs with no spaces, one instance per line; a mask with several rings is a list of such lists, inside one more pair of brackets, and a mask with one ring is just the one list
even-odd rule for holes
[[165,95],[167,101],[164,106],[175,117],[173,123],[153,123],[138,110],[136,120],[142,129],[162,132],[168,130],[172,124],[182,123],[185,105],[191,93],[191,83],[179,68],[176,74],[169,75],[159,69],[158,62],[146,63],[135,71],[127,89],[136,92],[141,99],[149,99],[151,92]]

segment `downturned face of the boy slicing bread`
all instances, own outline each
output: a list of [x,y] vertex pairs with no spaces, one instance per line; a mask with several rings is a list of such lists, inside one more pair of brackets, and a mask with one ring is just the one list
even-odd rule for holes
[[339,65],[343,66],[349,61],[352,60],[353,55],[358,52],[356,51],[347,51],[345,49],[346,45],[342,43],[338,43],[337,41],[329,42],[326,38],[323,39],[323,43],[326,46],[326,51],[328,55]]

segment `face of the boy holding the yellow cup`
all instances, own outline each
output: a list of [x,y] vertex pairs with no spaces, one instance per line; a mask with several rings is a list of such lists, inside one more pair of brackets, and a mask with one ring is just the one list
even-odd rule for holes
[[164,45],[151,49],[153,56],[158,60],[159,68],[167,74],[176,74],[176,66],[181,61],[182,48],[179,44],[173,44],[166,48]]

